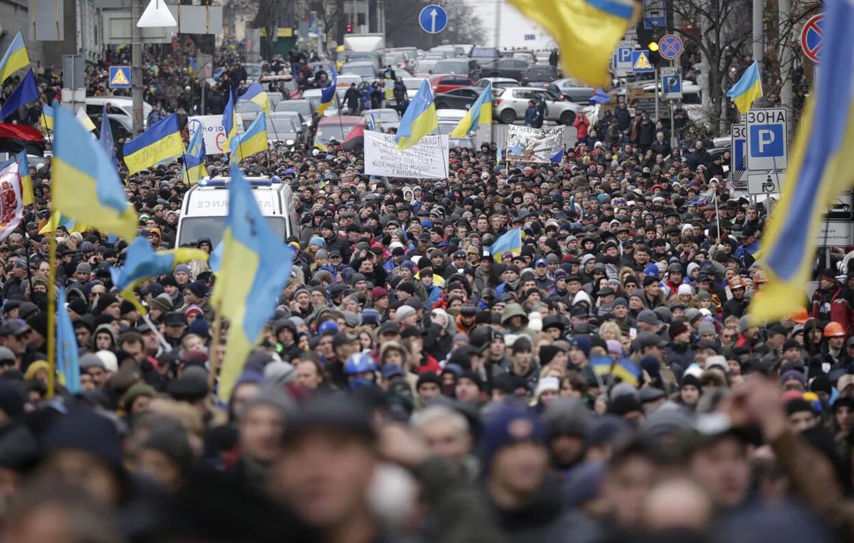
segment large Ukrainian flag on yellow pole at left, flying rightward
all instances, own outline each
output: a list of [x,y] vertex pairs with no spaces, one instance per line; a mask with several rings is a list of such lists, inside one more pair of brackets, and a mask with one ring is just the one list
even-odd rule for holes
[[97,141],[66,108],[56,108],[50,207],[69,219],[132,239],[137,213],[119,172]]

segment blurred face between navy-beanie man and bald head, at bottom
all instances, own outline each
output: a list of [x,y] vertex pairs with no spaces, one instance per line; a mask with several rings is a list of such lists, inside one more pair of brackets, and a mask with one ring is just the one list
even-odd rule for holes
[[620,528],[639,528],[643,523],[646,496],[656,473],[655,464],[636,455],[626,458],[605,476],[602,496]]

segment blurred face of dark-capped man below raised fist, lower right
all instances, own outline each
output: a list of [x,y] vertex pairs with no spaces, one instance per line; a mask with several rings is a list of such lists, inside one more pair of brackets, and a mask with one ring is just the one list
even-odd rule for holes
[[746,447],[734,437],[695,452],[688,467],[715,505],[728,508],[744,501],[750,488],[750,464]]

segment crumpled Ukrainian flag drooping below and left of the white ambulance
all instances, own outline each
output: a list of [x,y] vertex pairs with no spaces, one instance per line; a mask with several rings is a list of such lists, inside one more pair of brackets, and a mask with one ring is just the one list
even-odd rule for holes
[[155,252],[148,240],[137,237],[127,248],[125,266],[112,267],[109,273],[113,284],[120,290],[121,297],[130,301],[137,311],[144,315],[148,310],[133,295],[133,289],[149,277],[172,273],[178,264],[194,259],[208,260],[208,252],[190,247]]

